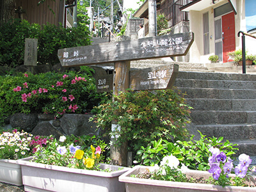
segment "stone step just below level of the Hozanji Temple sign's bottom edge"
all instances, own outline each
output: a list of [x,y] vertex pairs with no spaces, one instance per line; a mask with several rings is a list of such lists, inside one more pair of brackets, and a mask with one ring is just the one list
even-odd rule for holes
[[[175,83],[174,86],[177,86]],[[218,88],[190,88],[177,86],[178,90],[186,93],[184,98],[194,99],[256,99],[256,90],[244,89],[218,89]],[[246,94],[244,94],[246,92]]]

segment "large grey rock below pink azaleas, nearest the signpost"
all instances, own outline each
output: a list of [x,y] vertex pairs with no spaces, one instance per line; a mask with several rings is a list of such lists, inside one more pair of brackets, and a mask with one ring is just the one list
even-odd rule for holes
[[90,117],[92,117],[92,115],[64,114],[63,117],[60,119],[60,125],[65,134],[67,135],[99,135],[99,130],[96,131],[96,124],[93,122],[89,122]]

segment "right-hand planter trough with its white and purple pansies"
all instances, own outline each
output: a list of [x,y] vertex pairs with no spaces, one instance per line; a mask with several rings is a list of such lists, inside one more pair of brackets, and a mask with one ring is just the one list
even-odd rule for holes
[[[248,166],[252,162],[249,156],[239,156],[239,164],[230,174],[233,163],[230,158],[218,150],[210,148],[211,168],[209,172],[189,170],[184,164],[180,168],[179,159],[175,156],[165,156],[155,166],[134,166],[132,170],[119,177],[125,182],[126,190],[131,191],[255,191],[256,179],[244,179]],[[254,187],[244,187],[243,185]]]

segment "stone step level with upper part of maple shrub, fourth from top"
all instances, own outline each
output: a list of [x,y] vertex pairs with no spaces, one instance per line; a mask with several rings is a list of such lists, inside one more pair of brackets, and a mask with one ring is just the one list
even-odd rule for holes
[[255,111],[256,99],[186,99],[196,111]]

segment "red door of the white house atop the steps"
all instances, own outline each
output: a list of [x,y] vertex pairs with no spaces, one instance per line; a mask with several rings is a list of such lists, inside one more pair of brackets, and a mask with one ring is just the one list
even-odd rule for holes
[[228,52],[236,50],[234,12],[222,16],[223,63],[228,61]]

